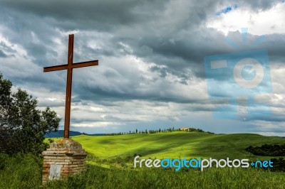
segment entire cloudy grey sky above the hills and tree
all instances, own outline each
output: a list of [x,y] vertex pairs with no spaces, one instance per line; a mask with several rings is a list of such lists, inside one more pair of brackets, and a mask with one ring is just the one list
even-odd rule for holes
[[[68,34],[74,33],[73,62],[99,60],[99,65],[73,70],[73,131],[190,126],[285,136],[284,1],[0,0],[0,5],[0,72],[15,89],[36,97],[40,108],[56,110],[61,128],[66,70],[43,73],[43,67],[67,63]],[[251,53],[265,61],[264,70],[247,66],[242,77],[264,79],[242,89],[232,69]],[[231,59],[227,68],[208,69],[208,60],[221,57]]]

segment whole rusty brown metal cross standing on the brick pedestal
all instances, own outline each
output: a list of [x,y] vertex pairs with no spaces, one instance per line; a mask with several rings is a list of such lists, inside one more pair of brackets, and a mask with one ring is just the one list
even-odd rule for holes
[[72,70],[73,68],[82,68],[92,65],[99,65],[98,60],[91,60],[83,63],[73,63],[73,40],[74,35],[69,35],[68,41],[68,64],[56,65],[43,68],[43,72],[52,72],[57,70],[67,70],[66,80],[66,116],[64,118],[64,138],[69,138],[69,127],[71,124],[71,87],[72,87]]

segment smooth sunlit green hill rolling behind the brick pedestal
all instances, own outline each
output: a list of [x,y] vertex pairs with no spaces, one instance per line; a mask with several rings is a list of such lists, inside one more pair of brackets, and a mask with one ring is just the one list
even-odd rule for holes
[[73,140],[98,158],[133,156],[145,158],[250,158],[264,160],[271,157],[254,156],[245,151],[248,146],[284,144],[285,139],[259,134],[207,134],[199,132],[168,132],[157,134],[127,134],[118,136],[73,136]]

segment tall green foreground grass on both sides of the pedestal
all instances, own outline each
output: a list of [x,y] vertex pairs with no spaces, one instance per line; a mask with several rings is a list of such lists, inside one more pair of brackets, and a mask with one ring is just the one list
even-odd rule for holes
[[285,188],[285,173],[254,168],[103,168],[41,185],[41,158],[0,154],[0,188]]

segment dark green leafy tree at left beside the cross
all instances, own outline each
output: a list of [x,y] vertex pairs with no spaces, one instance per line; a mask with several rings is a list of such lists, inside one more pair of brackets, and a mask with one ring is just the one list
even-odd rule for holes
[[57,131],[61,119],[49,107],[36,109],[36,99],[20,88],[11,92],[11,87],[0,73],[0,153],[41,153],[44,134]]

